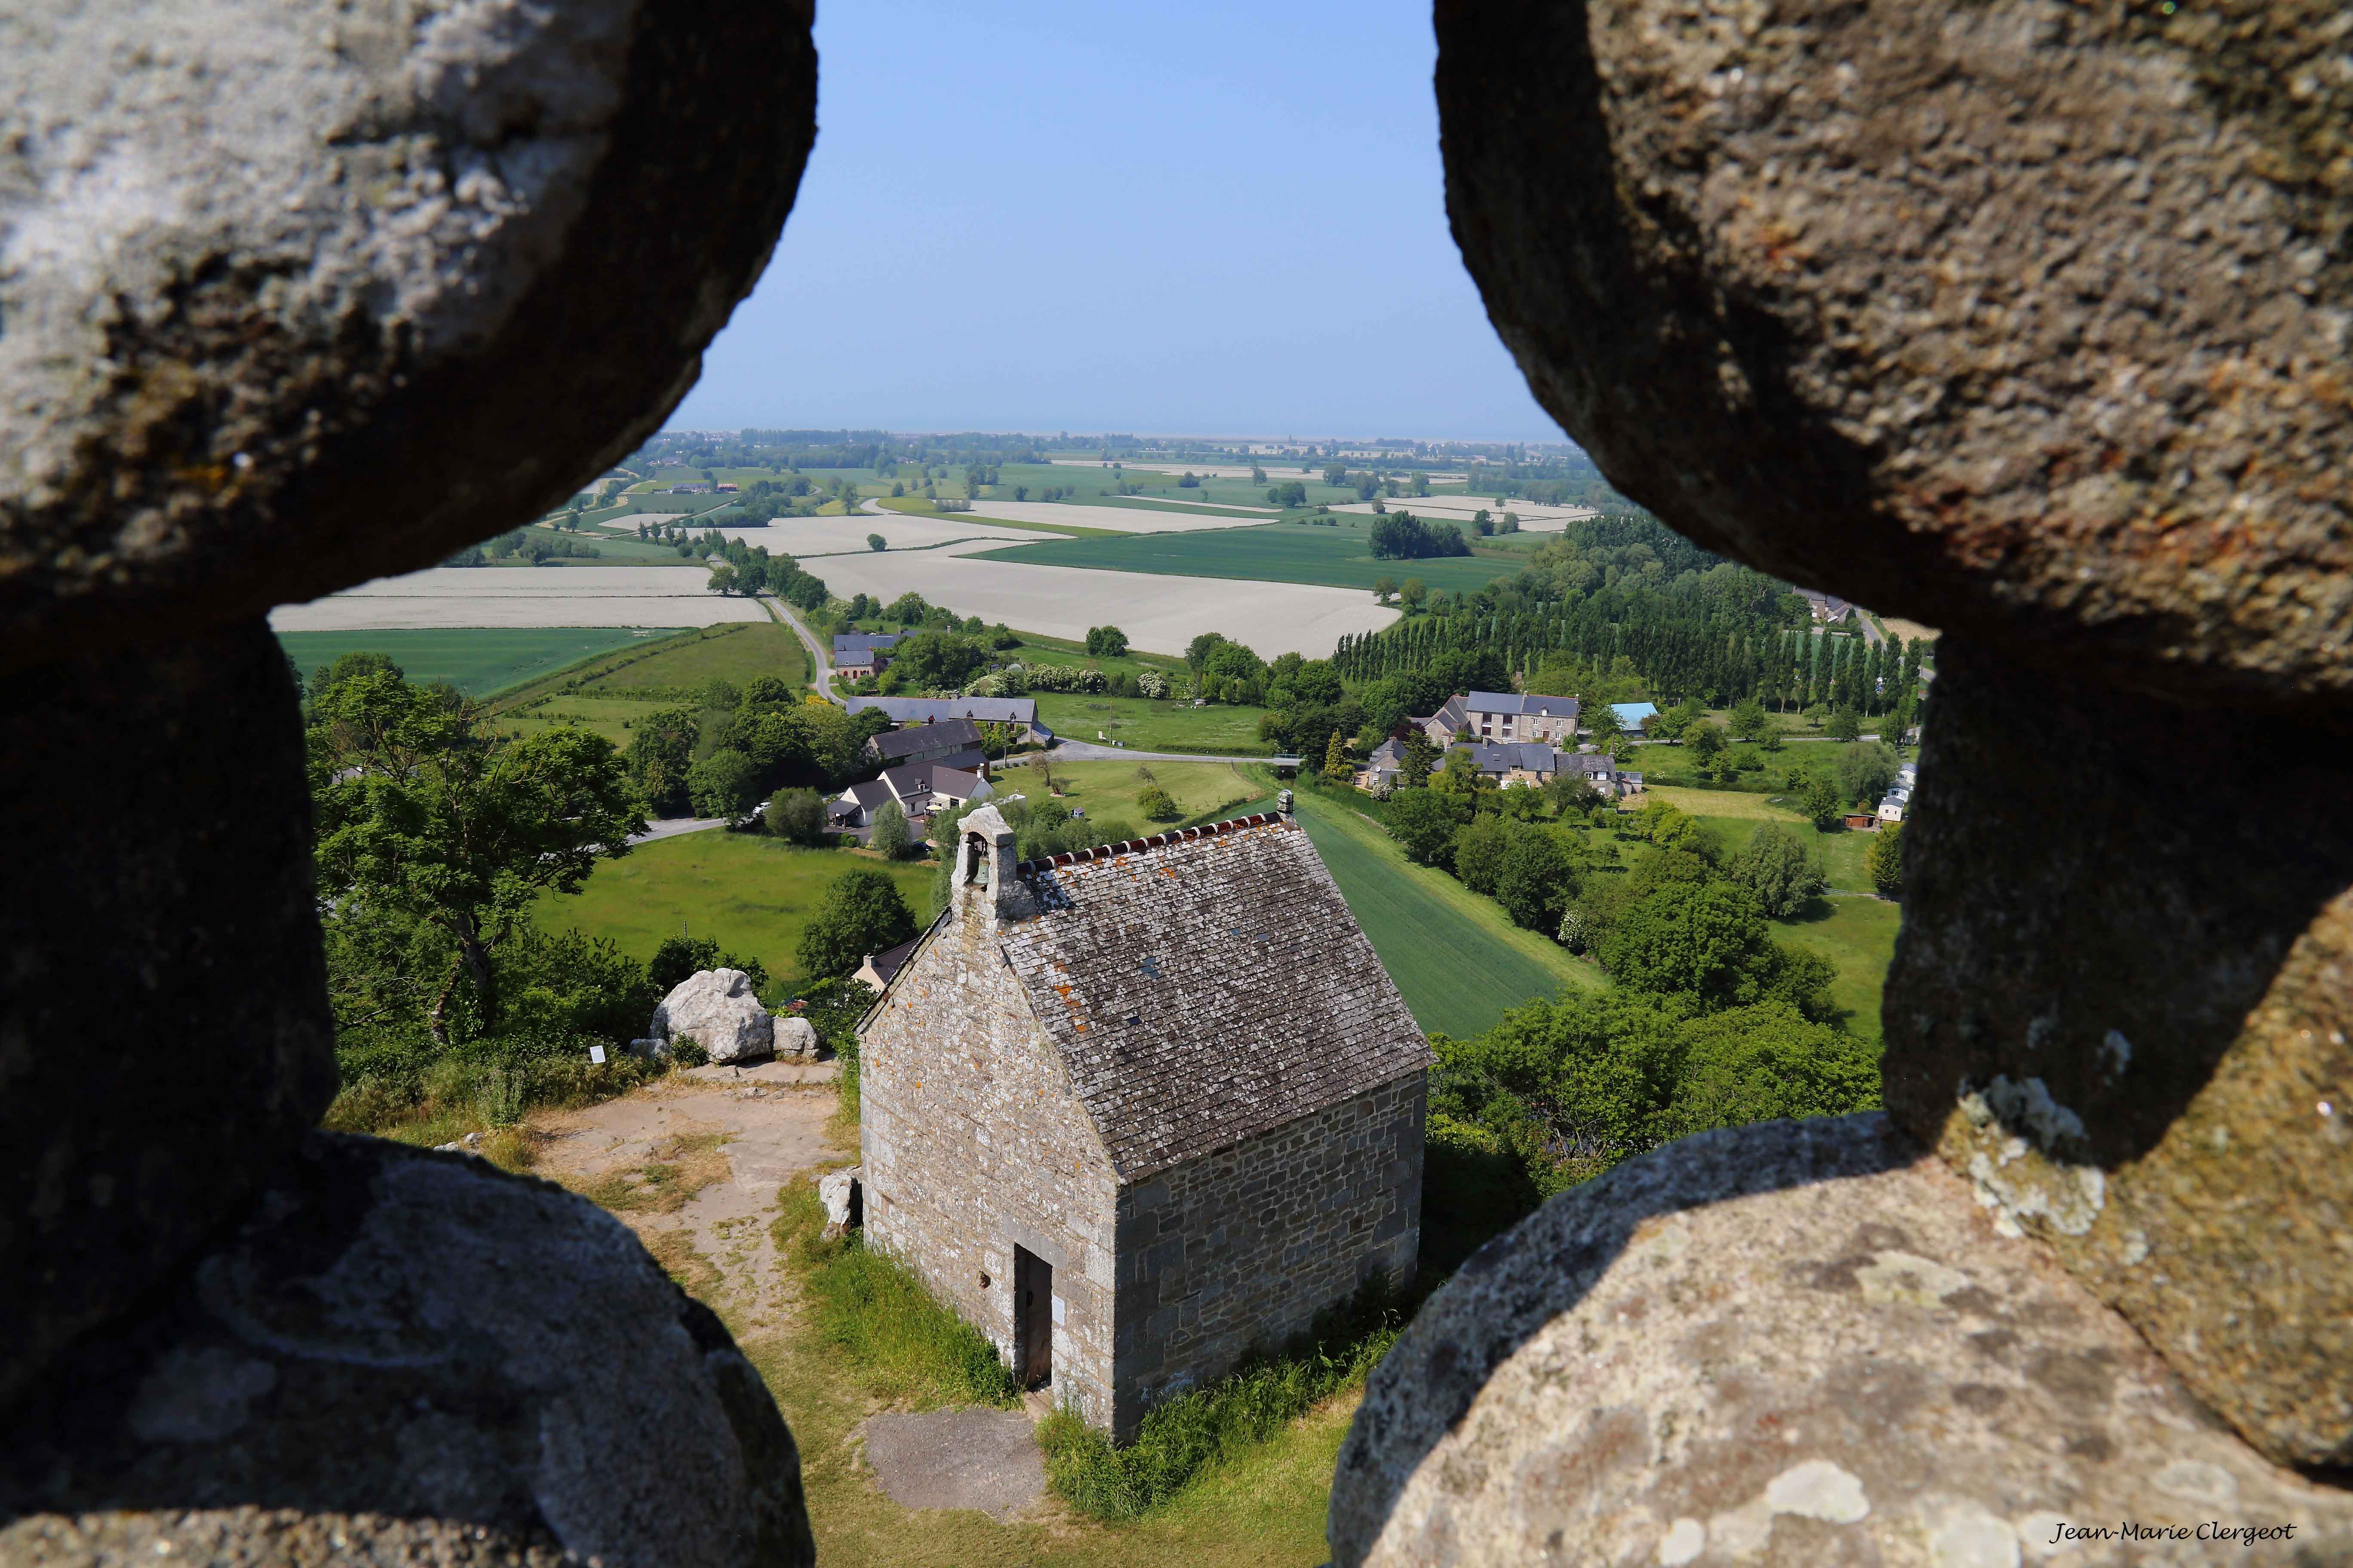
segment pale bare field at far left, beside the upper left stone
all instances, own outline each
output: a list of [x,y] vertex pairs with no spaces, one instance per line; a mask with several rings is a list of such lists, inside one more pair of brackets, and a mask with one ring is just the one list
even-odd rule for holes
[[[767,621],[767,611],[755,602],[720,597],[706,588],[708,581],[711,569],[701,562],[675,567],[426,567],[407,576],[360,583],[308,604],[280,604],[271,611],[271,630],[381,632],[440,625]],[[1080,635],[1085,637],[1085,628]]]

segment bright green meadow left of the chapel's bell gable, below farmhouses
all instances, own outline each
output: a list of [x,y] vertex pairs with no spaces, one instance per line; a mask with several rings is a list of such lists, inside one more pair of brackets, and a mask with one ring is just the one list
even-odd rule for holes
[[532,919],[548,931],[612,938],[633,959],[654,957],[661,938],[711,936],[720,950],[760,959],[767,973],[800,978],[793,943],[835,877],[882,867],[925,919],[932,865],[896,865],[849,849],[795,849],[753,832],[682,832],[600,860],[579,893],[541,893]]

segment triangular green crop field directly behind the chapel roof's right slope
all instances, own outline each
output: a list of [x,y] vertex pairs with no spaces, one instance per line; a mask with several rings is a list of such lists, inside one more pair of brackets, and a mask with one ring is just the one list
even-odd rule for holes
[[1494,900],[1407,860],[1395,839],[1346,804],[1311,790],[1299,790],[1297,802],[1348,912],[1424,1030],[1478,1034],[1508,1006],[1565,985],[1602,985],[1598,969],[1520,931]]

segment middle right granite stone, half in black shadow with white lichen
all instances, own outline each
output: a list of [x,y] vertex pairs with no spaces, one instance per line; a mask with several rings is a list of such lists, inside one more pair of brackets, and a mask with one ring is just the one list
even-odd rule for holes
[[1920,785],[1889,1114],[2264,1453],[2353,1462],[2346,759],[1948,637]]

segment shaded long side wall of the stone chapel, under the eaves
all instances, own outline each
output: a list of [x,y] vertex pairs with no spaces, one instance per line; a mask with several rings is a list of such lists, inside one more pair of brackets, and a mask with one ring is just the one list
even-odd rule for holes
[[1421,1248],[1421,1072],[1120,1192],[1113,1434]]

